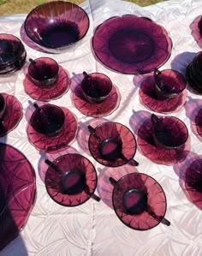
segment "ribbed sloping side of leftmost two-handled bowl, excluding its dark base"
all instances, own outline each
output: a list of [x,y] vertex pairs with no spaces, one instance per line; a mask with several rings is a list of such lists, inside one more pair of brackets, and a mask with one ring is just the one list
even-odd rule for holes
[[[96,189],[98,177],[95,167],[87,158],[79,154],[66,154],[56,158],[52,164],[56,168],[49,167],[45,173],[45,188],[51,199],[62,206],[77,206],[91,198]],[[77,170],[80,176],[83,177],[82,179],[85,180],[84,188],[80,189],[78,193],[64,193],[61,186],[62,179],[67,171],[68,174],[71,174],[74,170]],[[80,185],[83,184],[80,182]]]

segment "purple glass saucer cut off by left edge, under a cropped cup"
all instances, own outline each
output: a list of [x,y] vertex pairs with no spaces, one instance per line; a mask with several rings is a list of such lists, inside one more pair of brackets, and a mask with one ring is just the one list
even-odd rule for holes
[[22,106],[17,98],[7,93],[2,93],[5,100],[6,109],[3,115],[3,120],[0,122],[0,137],[9,134],[14,130],[22,118]]

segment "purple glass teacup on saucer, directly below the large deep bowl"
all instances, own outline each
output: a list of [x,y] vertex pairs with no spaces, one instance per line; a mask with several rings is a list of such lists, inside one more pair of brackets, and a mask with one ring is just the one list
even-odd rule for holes
[[33,83],[42,88],[50,88],[56,85],[58,79],[59,66],[50,57],[39,57],[30,59],[28,74]]

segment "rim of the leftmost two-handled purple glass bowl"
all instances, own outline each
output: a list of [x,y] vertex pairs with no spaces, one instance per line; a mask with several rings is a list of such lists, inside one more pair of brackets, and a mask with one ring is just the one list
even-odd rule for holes
[[[91,162],[88,158],[82,156],[82,155],[79,154],[79,153],[67,153],[67,154],[64,154],[64,155],[62,155],[62,156],[60,156],[60,157],[54,159],[54,160],[52,161],[52,163],[55,164],[56,160],[58,160],[58,159],[60,159],[60,158],[63,158],[63,157],[65,157],[65,156],[68,156],[68,155],[78,155],[78,156],[80,156],[81,158],[85,158],[85,159],[88,161],[88,164],[92,164],[92,162]],[[60,203],[60,202],[58,202],[56,199],[54,199],[54,197],[53,197],[52,195],[50,195],[50,193],[49,193],[49,191],[48,191],[48,188],[47,188],[47,184],[46,184],[46,183],[47,183],[47,182],[46,182],[46,180],[47,180],[47,172],[48,172],[49,168],[50,168],[50,167],[48,167],[48,169],[47,169],[46,172],[45,172],[45,189],[46,189],[47,193],[49,194],[50,199],[53,199],[53,201],[56,202],[58,205],[62,205],[62,206],[65,206],[65,207],[76,207],[76,206],[83,205],[84,203],[86,203],[86,201],[88,201],[89,199],[92,198],[92,195],[93,195],[93,193],[95,193],[95,190],[96,190],[97,185],[98,185],[98,175],[97,175],[97,171],[96,171],[96,169],[95,169],[94,164],[92,164],[92,168],[93,168],[93,170],[95,171],[95,174],[96,174],[96,180],[95,180],[96,184],[95,184],[95,188],[93,189],[92,194],[89,195],[88,198],[87,198],[85,201],[83,201],[82,203],[80,203],[80,204],[78,204],[78,205],[63,205],[62,203]],[[64,195],[65,195],[65,193],[64,193]],[[67,194],[67,195],[68,195],[68,194]]]

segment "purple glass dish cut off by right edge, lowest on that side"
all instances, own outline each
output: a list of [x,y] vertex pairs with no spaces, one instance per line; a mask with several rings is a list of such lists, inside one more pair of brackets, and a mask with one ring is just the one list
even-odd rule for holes
[[185,188],[190,199],[202,209],[202,159],[195,159],[185,172]]

